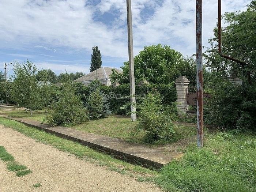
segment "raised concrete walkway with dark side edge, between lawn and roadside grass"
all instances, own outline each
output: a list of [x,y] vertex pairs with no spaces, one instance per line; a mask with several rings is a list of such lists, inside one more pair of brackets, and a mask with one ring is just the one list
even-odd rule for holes
[[[103,151],[113,155],[118,159],[125,159],[131,163],[140,163],[144,166],[162,167],[173,159],[181,158],[184,154],[177,151],[178,147],[185,147],[191,142],[189,140],[180,140],[177,143],[172,143],[166,146],[150,147],[143,144],[129,143],[121,139],[111,138],[104,135],[94,133],[86,133],[68,127],[51,127],[47,124],[41,124],[38,121],[28,120],[25,118],[6,117],[15,121],[19,121],[29,126],[33,126],[43,131],[53,133],[61,138],[73,140],[94,148],[98,151]],[[194,139],[194,137],[192,137]]]

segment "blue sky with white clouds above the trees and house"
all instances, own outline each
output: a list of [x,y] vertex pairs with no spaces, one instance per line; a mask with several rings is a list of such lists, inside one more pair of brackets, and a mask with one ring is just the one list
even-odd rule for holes
[[[169,45],[196,51],[196,0],[132,0],[133,46]],[[245,10],[250,0],[222,0],[222,13]],[[203,46],[218,17],[218,0],[203,1]],[[224,24],[225,25],[225,24]],[[32,61],[39,69],[89,73],[92,47],[102,66],[128,61],[126,0],[0,0],[0,70],[4,62]],[[12,67],[8,65],[9,75]]]

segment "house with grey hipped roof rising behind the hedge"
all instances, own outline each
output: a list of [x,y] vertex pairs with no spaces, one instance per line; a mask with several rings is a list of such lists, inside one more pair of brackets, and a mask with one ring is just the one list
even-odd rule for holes
[[117,68],[101,67],[87,75],[84,75],[76,79],[75,81],[83,83],[84,85],[88,86],[92,81],[98,79],[103,85],[111,86],[112,84],[110,82],[109,76],[112,74],[112,69],[116,69],[116,71],[120,74],[123,73],[123,71]]

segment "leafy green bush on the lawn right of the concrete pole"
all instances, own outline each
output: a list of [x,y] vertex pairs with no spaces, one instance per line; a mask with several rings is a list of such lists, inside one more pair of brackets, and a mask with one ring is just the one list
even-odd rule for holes
[[148,93],[138,108],[139,123],[135,134],[145,130],[145,141],[148,143],[163,143],[172,139],[174,125],[162,105],[161,95],[156,90]]

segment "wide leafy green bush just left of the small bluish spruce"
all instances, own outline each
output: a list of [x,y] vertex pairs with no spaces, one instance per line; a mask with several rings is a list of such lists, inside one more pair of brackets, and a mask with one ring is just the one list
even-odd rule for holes
[[83,102],[75,93],[74,82],[65,80],[59,93],[59,101],[56,102],[54,110],[45,117],[47,124],[67,127],[89,120],[89,114]]

